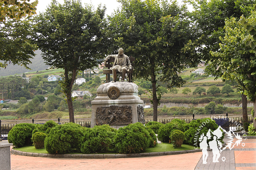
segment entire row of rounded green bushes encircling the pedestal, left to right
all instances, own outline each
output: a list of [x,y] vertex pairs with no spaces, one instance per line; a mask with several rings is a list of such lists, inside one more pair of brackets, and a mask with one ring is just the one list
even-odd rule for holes
[[[207,123],[199,128],[203,122]],[[51,154],[90,154],[104,153],[108,150],[120,154],[133,154],[155,147],[156,133],[160,141],[180,147],[183,141],[189,145],[198,145],[195,144],[195,136],[199,137],[202,133],[206,134],[209,129],[214,131],[217,128],[218,125],[210,118],[193,120],[189,124],[180,119],[173,119],[167,124],[152,121],[145,126],[135,123],[118,130],[109,125],[87,128],[74,123],[58,125],[54,121],[48,121],[43,125],[17,124],[9,132],[8,141],[17,148],[32,143],[36,148],[44,146]]]

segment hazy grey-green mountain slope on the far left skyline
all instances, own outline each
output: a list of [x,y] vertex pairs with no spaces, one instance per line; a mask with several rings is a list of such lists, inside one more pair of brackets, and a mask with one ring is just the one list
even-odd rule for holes
[[8,66],[6,67],[6,69],[2,68],[0,70],[0,76],[9,76],[9,75],[14,75],[14,74],[22,74],[25,72],[31,72],[31,71],[39,71],[39,70],[45,70],[47,69],[49,66],[45,65],[44,60],[41,56],[41,51],[37,50],[35,51],[36,56],[31,59],[32,64],[29,64],[28,67],[31,68],[31,70],[28,70],[26,68],[24,68],[23,66],[19,66],[19,65],[12,65],[12,64],[8,64]]

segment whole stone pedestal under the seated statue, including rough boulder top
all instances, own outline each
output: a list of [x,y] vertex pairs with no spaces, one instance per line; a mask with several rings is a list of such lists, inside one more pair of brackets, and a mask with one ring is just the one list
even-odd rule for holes
[[124,127],[131,123],[145,123],[143,100],[138,96],[138,86],[129,82],[109,82],[100,85],[92,103],[91,127],[109,124]]

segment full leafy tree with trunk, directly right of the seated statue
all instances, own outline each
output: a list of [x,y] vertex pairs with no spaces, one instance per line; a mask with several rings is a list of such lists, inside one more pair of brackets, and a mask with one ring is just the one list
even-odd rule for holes
[[107,29],[111,41],[109,51],[116,53],[122,47],[126,55],[136,58],[134,74],[137,79],[152,84],[153,121],[157,121],[161,99],[157,96],[157,82],[167,83],[169,89],[180,87],[185,81],[178,73],[199,63],[195,49],[187,46],[195,38],[194,29],[186,7],[179,7],[176,1],[170,4],[165,0],[119,2],[122,6],[110,17]]

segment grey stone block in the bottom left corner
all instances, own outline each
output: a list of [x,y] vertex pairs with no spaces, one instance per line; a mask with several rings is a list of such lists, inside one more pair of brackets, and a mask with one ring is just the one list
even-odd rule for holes
[[11,169],[11,150],[10,146],[12,143],[9,144],[0,144],[0,169]]

